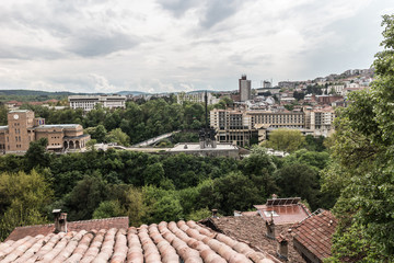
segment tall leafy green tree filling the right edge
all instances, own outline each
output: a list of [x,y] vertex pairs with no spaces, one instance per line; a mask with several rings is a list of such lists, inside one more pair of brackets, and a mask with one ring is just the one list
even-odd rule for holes
[[[352,92],[352,103],[338,112],[333,165],[325,185],[343,187],[334,213],[339,224],[333,260],[392,262],[394,258],[394,15],[383,15],[384,50],[374,60],[370,91]],[[345,178],[345,180],[343,180]],[[345,184],[344,186],[341,186]]]

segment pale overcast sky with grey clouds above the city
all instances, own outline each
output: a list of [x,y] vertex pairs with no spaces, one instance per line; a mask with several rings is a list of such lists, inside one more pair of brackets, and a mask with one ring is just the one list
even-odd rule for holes
[[235,90],[369,68],[393,0],[12,0],[0,90]]

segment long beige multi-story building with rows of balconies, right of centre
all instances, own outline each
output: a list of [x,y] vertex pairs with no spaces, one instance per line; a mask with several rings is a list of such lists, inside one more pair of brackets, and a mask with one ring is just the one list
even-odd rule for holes
[[[267,134],[278,128],[298,129],[304,135],[329,136],[335,114],[333,108],[270,112],[212,110],[210,126],[217,130],[219,142],[232,142],[239,146],[266,139]],[[256,141],[256,142],[257,142]]]

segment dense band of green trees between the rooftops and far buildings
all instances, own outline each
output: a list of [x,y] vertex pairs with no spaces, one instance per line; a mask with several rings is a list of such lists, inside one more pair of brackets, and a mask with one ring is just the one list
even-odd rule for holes
[[320,190],[326,151],[302,149],[278,159],[255,147],[243,160],[113,149],[57,156],[45,144],[31,142],[24,157],[0,158],[2,239],[16,226],[47,222],[55,208],[70,220],[128,216],[138,226],[198,220],[212,208],[232,215],[274,193],[300,196],[312,209],[332,205]]

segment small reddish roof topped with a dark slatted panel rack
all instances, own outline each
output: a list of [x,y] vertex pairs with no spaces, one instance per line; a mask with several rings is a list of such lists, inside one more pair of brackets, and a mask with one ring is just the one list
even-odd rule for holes
[[265,205],[255,205],[254,207],[266,221],[273,218],[275,225],[296,224],[311,215],[310,210],[299,202],[299,197],[275,198],[268,199]]

